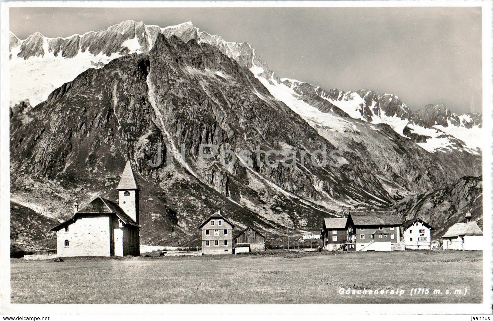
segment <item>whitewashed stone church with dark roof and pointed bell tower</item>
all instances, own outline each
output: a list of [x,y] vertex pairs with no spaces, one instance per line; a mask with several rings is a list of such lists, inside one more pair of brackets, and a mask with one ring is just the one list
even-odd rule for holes
[[127,161],[118,187],[118,204],[97,196],[67,221],[53,227],[59,257],[139,256],[139,188]]

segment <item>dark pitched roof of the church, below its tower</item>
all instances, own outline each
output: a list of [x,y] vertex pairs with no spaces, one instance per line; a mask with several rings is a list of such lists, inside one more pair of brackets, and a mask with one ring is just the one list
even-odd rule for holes
[[92,201],[90,201],[89,204],[78,210],[77,213],[75,213],[70,219],[53,227],[51,230],[58,231],[65,225],[75,222],[75,220],[77,220],[77,218],[79,217],[101,213],[114,214],[123,222],[123,224],[139,226],[137,222],[135,222],[130,216],[125,214],[125,212],[120,208],[120,206],[118,206],[118,204],[110,201],[109,199],[97,196]]

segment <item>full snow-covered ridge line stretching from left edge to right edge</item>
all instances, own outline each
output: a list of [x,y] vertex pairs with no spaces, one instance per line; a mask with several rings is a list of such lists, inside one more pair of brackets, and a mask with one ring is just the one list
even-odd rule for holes
[[[313,126],[330,124],[332,128],[348,130],[353,128],[348,125],[348,119],[353,119],[368,126],[387,124],[400,136],[415,139],[429,152],[462,148],[443,135],[464,142],[465,147],[473,152],[479,147],[481,140],[476,137],[480,135],[481,114],[457,115],[440,104],[411,111],[393,94],[379,95],[367,89],[327,91],[296,79],[281,79],[250,44],[229,42],[220,35],[201,32],[191,21],[161,28],[145,25],[142,21],[125,20],[106,30],[65,38],[48,38],[35,32],[20,40],[10,32],[11,106],[19,101],[29,101],[34,106],[45,100],[55,88],[88,68],[100,68],[124,55],[148,53],[159,34],[167,38],[176,36],[184,42],[194,39],[199,44],[218,48],[221,53],[248,68],[273,96],[292,107]],[[26,79],[35,81],[27,82]],[[320,120],[318,124],[317,120]],[[436,139],[440,139],[441,143],[436,143]]]

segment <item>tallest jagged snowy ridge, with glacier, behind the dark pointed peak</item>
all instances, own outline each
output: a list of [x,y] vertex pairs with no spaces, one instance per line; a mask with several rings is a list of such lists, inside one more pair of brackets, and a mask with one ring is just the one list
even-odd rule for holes
[[[184,42],[194,39],[197,43],[216,46],[223,54],[252,72],[281,82],[246,42],[228,42],[219,35],[201,32],[191,21],[161,28],[147,26],[142,21],[125,20],[106,30],[73,34],[65,38],[48,38],[35,32],[25,40],[20,40],[11,32],[10,105],[29,99],[34,106],[45,100],[55,88],[88,68],[101,67],[127,54],[148,53],[161,33],[166,37],[175,35]],[[51,71],[47,73],[47,69]],[[28,78],[36,81],[26,83],[25,79]]]

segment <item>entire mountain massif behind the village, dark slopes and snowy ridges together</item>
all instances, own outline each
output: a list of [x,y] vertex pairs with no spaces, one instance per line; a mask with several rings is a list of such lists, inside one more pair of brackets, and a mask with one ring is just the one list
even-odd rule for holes
[[[388,207],[481,173],[480,149],[437,128],[425,128],[436,137],[416,133],[413,126],[428,125],[407,116],[397,97],[327,94],[281,80],[250,45],[191,23],[160,28],[126,21],[68,38],[34,34],[21,41],[11,34],[10,40],[11,102],[24,101],[11,112],[13,199],[66,218],[75,199],[83,204],[97,193],[114,199],[129,159],[142,189],[143,244],[193,243],[196,225],[217,209],[275,240],[285,226],[317,230],[322,217],[347,208]],[[38,76],[22,82],[27,74]],[[50,86],[60,87],[48,96]],[[356,104],[358,96],[364,103]],[[27,99],[41,102],[32,108]],[[421,118],[439,120],[437,110]],[[481,126],[480,115],[457,116],[459,124],[444,113],[447,125],[462,131]],[[445,138],[451,147],[420,146],[430,138]],[[159,143],[163,158],[184,144],[184,160],[149,166]],[[247,167],[246,160],[200,160],[200,143],[232,150],[236,159],[259,146],[262,160]],[[323,146],[342,151],[340,167],[309,161]],[[263,160],[270,149],[296,150],[298,164],[307,150],[307,161],[271,168]]]

